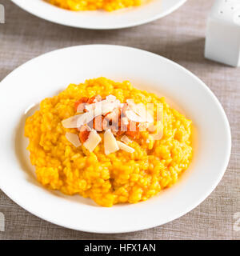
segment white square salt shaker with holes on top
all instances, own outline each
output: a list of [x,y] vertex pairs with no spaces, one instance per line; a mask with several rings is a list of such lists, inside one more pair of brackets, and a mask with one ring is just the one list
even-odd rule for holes
[[240,66],[240,0],[215,0],[207,21],[205,57]]

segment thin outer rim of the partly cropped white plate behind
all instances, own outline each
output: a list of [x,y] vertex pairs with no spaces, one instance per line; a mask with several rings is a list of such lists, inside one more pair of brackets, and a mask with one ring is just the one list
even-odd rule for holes
[[170,8],[169,10],[166,10],[162,14],[155,14],[151,18],[146,18],[140,22],[131,22],[130,24],[124,25],[124,26],[114,26],[114,25],[111,25],[111,26],[96,26],[96,25],[95,26],[79,26],[76,24],[70,24],[68,22],[62,22],[59,20],[56,21],[56,20],[54,20],[54,18],[48,17],[45,14],[41,15],[41,14],[38,14],[37,11],[30,10],[30,8],[26,8],[26,6],[24,4],[22,4],[21,0],[11,0],[11,1],[14,2],[14,4],[18,7],[20,7],[22,10],[25,10],[26,12],[28,12],[38,18],[42,18],[45,21],[53,22],[58,25],[70,26],[70,27],[75,27],[75,28],[79,28],[79,29],[88,29],[88,30],[120,30],[120,29],[134,27],[134,26],[141,26],[141,25],[149,23],[149,22],[154,22],[155,20],[157,20],[159,18],[163,18],[163,17],[167,16],[168,14],[171,14],[175,10],[178,10],[178,8],[180,8],[187,0],[179,0],[179,2],[177,4],[175,4],[172,8]]

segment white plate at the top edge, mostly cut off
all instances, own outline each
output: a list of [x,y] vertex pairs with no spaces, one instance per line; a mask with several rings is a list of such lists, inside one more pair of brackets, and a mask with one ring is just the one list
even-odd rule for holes
[[106,12],[63,10],[43,0],[12,0],[22,9],[50,22],[95,30],[119,29],[152,22],[170,14],[186,0],[150,0],[138,7]]

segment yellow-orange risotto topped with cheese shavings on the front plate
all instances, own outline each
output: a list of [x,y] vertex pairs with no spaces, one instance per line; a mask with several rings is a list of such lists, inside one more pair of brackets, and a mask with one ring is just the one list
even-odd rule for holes
[[177,182],[192,158],[191,123],[164,98],[96,78],[42,100],[25,136],[43,186],[113,206]]

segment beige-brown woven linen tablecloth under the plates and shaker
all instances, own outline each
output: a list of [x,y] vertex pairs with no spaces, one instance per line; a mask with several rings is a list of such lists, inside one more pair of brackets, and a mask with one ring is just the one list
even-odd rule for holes
[[213,2],[189,0],[158,21],[124,30],[98,31],[46,22],[9,0],[0,0],[6,9],[6,23],[0,24],[0,81],[17,66],[50,50],[93,43],[134,46],[170,58],[206,82],[226,110],[233,141],[230,163],[218,187],[200,206],[166,225],[130,234],[68,230],[26,212],[0,190],[0,212],[6,218],[0,239],[240,238],[240,231],[234,231],[234,214],[240,212],[240,69],[203,57],[206,17]]

